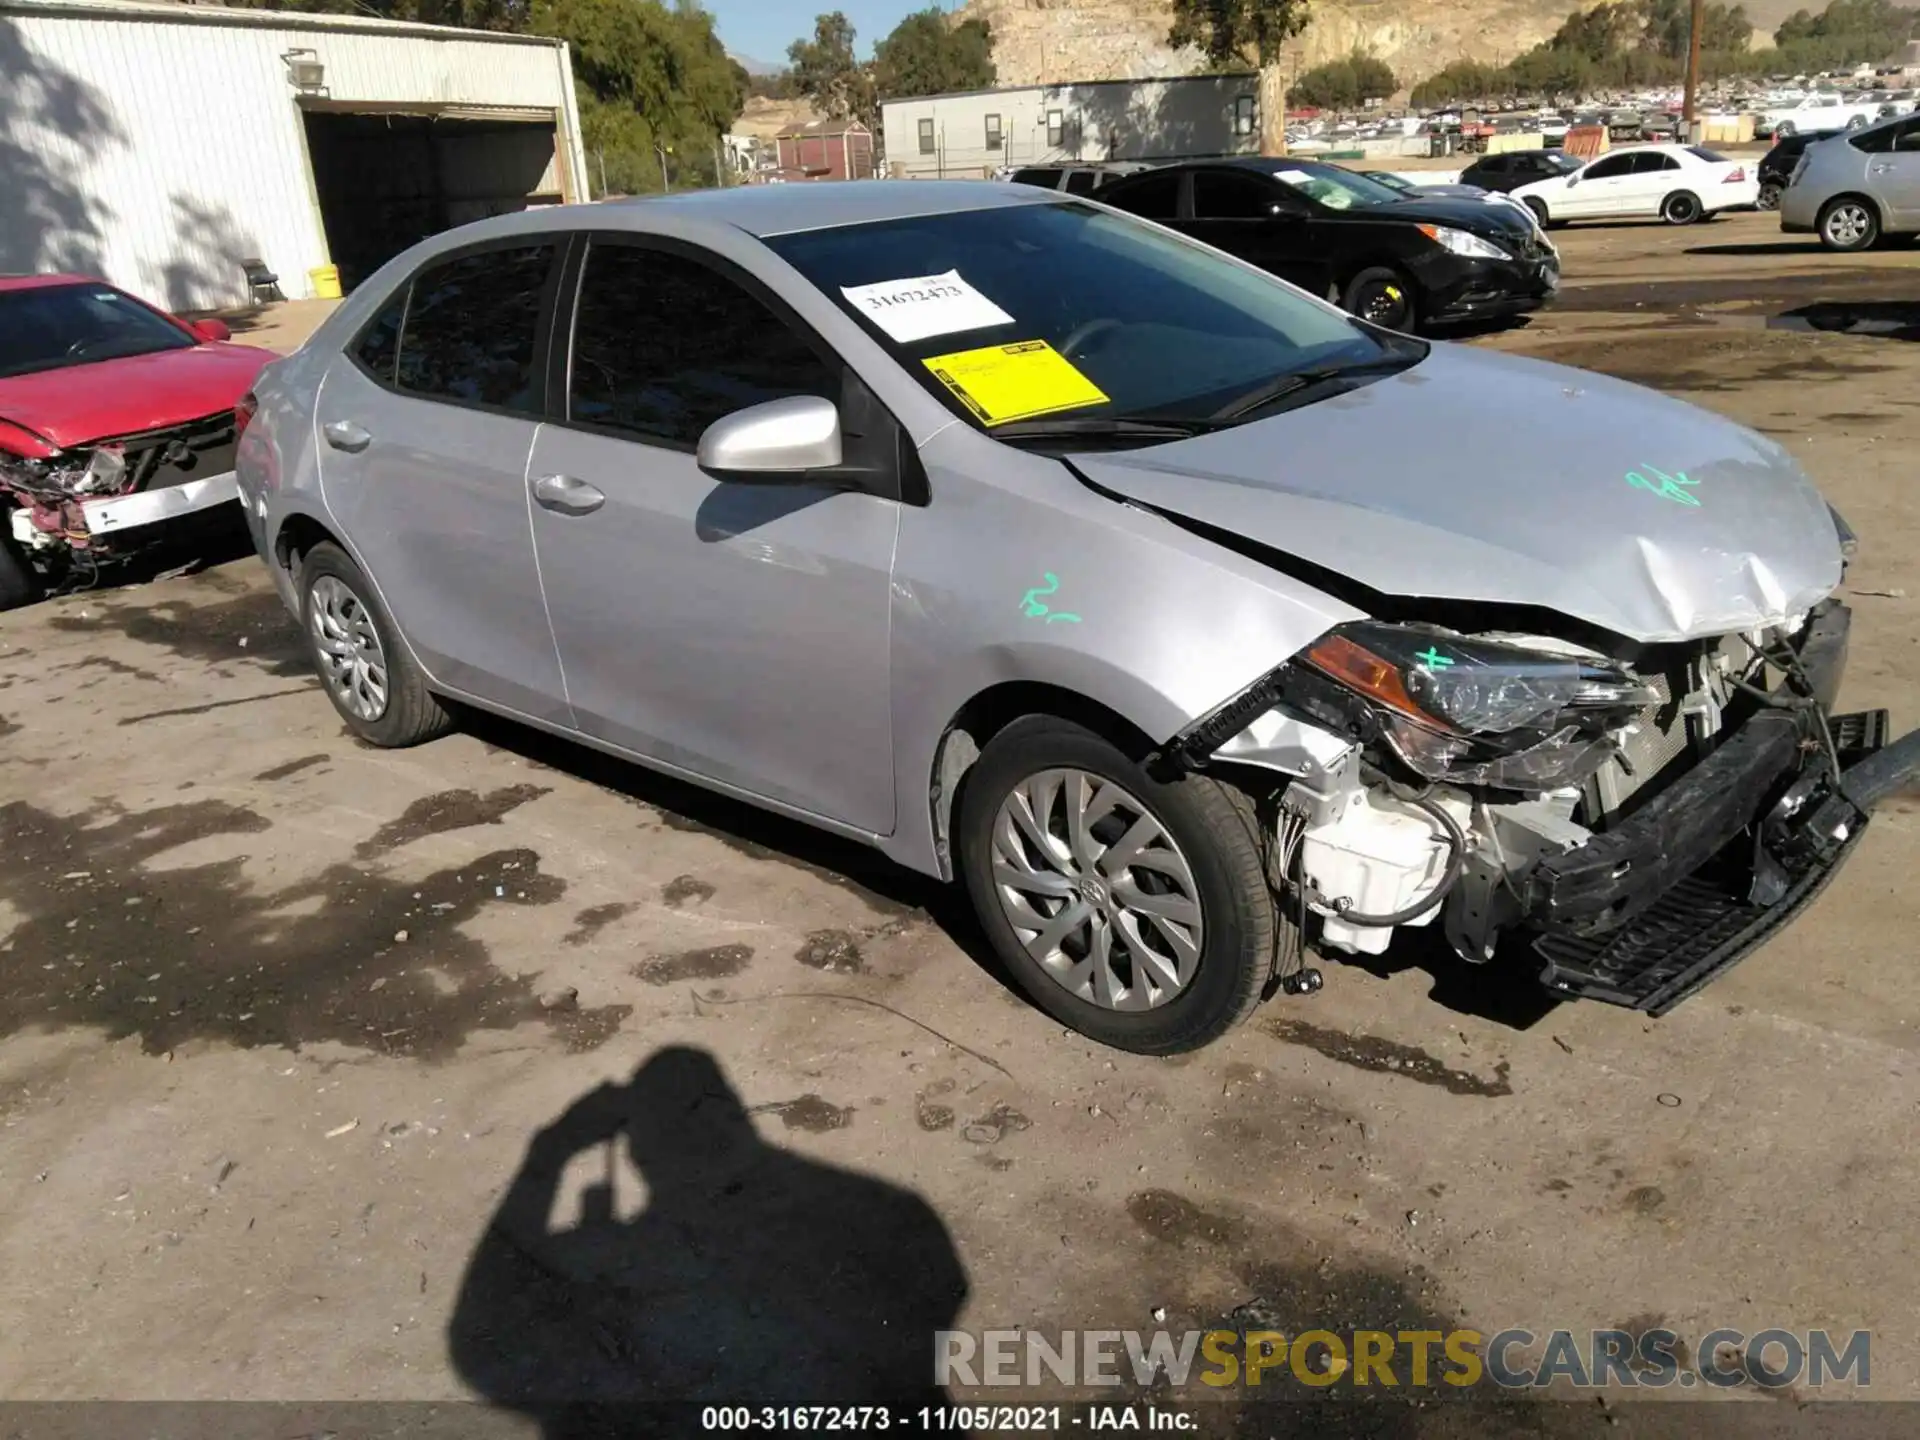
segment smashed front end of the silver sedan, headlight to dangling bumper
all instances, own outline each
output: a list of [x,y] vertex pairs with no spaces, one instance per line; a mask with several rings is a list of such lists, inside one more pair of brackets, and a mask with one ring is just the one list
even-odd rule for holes
[[1920,774],[1920,732],[1889,745],[1884,710],[1832,708],[1849,622],[1828,599],[1624,659],[1354,622],[1162,760],[1265,772],[1269,881],[1319,948],[1438,920],[1463,960],[1524,937],[1551,993],[1657,1016],[1782,929]]

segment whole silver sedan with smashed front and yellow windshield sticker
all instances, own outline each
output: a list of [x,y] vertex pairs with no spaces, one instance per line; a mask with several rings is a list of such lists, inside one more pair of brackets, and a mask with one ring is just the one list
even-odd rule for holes
[[457,699],[866,841],[1129,1050],[1419,927],[1659,1014],[1920,768],[1832,710],[1780,445],[1029,186],[470,225],[244,411],[357,735]]

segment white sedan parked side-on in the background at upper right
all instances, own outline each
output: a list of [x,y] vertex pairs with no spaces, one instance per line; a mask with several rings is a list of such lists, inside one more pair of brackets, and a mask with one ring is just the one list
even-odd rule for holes
[[1542,225],[1659,217],[1692,225],[1726,209],[1753,209],[1759,177],[1751,165],[1705,146],[1628,146],[1594,157],[1571,175],[1517,186],[1511,194]]

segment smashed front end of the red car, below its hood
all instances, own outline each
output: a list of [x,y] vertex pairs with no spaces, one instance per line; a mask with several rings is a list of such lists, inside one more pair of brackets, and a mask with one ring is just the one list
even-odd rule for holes
[[159,522],[232,499],[236,438],[228,411],[42,455],[0,449],[8,534],[48,591],[84,589],[146,549]]

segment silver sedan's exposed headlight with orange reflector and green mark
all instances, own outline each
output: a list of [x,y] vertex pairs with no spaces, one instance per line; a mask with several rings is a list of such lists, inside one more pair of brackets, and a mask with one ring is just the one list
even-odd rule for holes
[[1304,659],[1373,705],[1415,774],[1496,789],[1580,783],[1613,753],[1609,732],[1659,701],[1613,664],[1371,620]]

